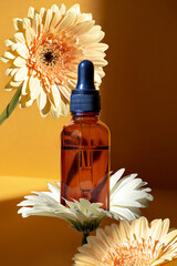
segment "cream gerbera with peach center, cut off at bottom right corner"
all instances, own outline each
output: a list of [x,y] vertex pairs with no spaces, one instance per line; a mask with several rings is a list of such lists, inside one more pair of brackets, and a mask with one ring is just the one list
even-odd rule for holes
[[79,248],[74,265],[163,265],[177,257],[177,229],[168,229],[169,219],[154,219],[148,225],[145,217],[97,229],[96,236],[87,237],[88,244]]

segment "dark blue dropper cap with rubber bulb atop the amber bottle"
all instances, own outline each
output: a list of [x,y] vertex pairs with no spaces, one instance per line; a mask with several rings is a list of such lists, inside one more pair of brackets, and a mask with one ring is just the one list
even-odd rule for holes
[[94,65],[88,60],[79,64],[77,84],[71,94],[70,111],[72,113],[101,111],[100,91],[94,85]]

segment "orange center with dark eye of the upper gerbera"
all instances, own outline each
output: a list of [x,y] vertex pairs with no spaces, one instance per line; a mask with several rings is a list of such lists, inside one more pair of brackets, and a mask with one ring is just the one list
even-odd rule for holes
[[28,65],[45,83],[66,82],[66,74],[76,71],[82,50],[74,37],[48,33],[34,41],[30,49]]

